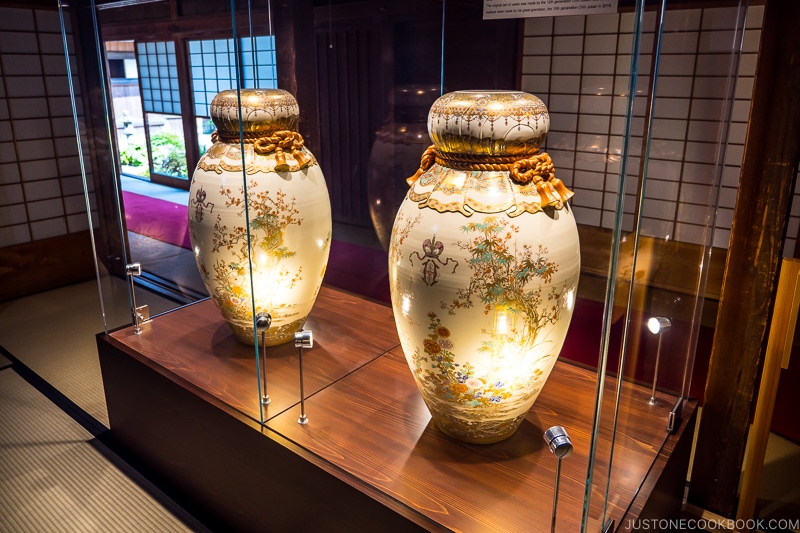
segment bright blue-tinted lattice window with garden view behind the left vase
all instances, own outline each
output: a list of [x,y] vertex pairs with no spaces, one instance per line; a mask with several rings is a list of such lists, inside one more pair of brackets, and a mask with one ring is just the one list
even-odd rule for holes
[[[273,36],[242,38],[238,50],[234,44],[233,39],[191,40],[185,48],[177,40],[106,43],[112,85],[128,87],[113,95],[124,174],[188,188],[190,169],[211,144],[214,96],[235,88],[238,80],[242,87],[277,86]],[[188,80],[178,72],[184,50]],[[193,114],[184,116],[181,105],[188,98]],[[187,150],[187,143],[194,146]]]

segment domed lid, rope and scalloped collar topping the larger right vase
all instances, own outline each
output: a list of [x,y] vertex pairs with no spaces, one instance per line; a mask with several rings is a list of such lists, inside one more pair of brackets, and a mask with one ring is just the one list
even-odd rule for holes
[[408,198],[440,212],[505,212],[515,217],[562,209],[573,193],[539,147],[550,115],[522,91],[456,91],[428,114],[433,145],[407,181]]

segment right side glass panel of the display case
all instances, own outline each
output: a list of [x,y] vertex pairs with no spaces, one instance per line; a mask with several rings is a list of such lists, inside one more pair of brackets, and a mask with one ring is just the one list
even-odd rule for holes
[[[727,243],[718,210],[721,183],[726,166],[741,164],[742,152],[729,145],[728,132],[744,19],[739,6],[667,6],[643,14],[632,106],[642,122],[639,127],[632,121],[629,129],[614,300],[627,311],[611,315],[616,323],[606,381],[616,391],[613,407],[600,413],[613,420],[614,443],[642,438],[644,425],[633,413],[646,402],[653,422],[665,428],[653,442],[660,448],[673,425],[671,412],[679,419],[683,400],[702,394],[702,382],[690,386],[697,351],[710,350],[721,286],[718,277],[709,277],[721,268],[725,251],[719,245]],[[685,76],[692,74],[687,84]],[[649,385],[649,394],[642,396],[641,383]],[[631,473],[625,461],[615,460],[613,448],[598,454],[596,471],[605,476],[610,465],[610,478],[604,491],[598,485],[605,496],[590,509],[605,521],[615,517],[613,496]],[[600,514],[596,504],[602,500]]]

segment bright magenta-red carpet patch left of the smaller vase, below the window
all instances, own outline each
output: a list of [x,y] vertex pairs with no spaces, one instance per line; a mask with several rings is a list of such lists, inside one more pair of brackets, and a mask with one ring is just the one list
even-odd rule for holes
[[158,198],[122,191],[128,231],[174,244],[187,250],[189,242],[188,208]]

